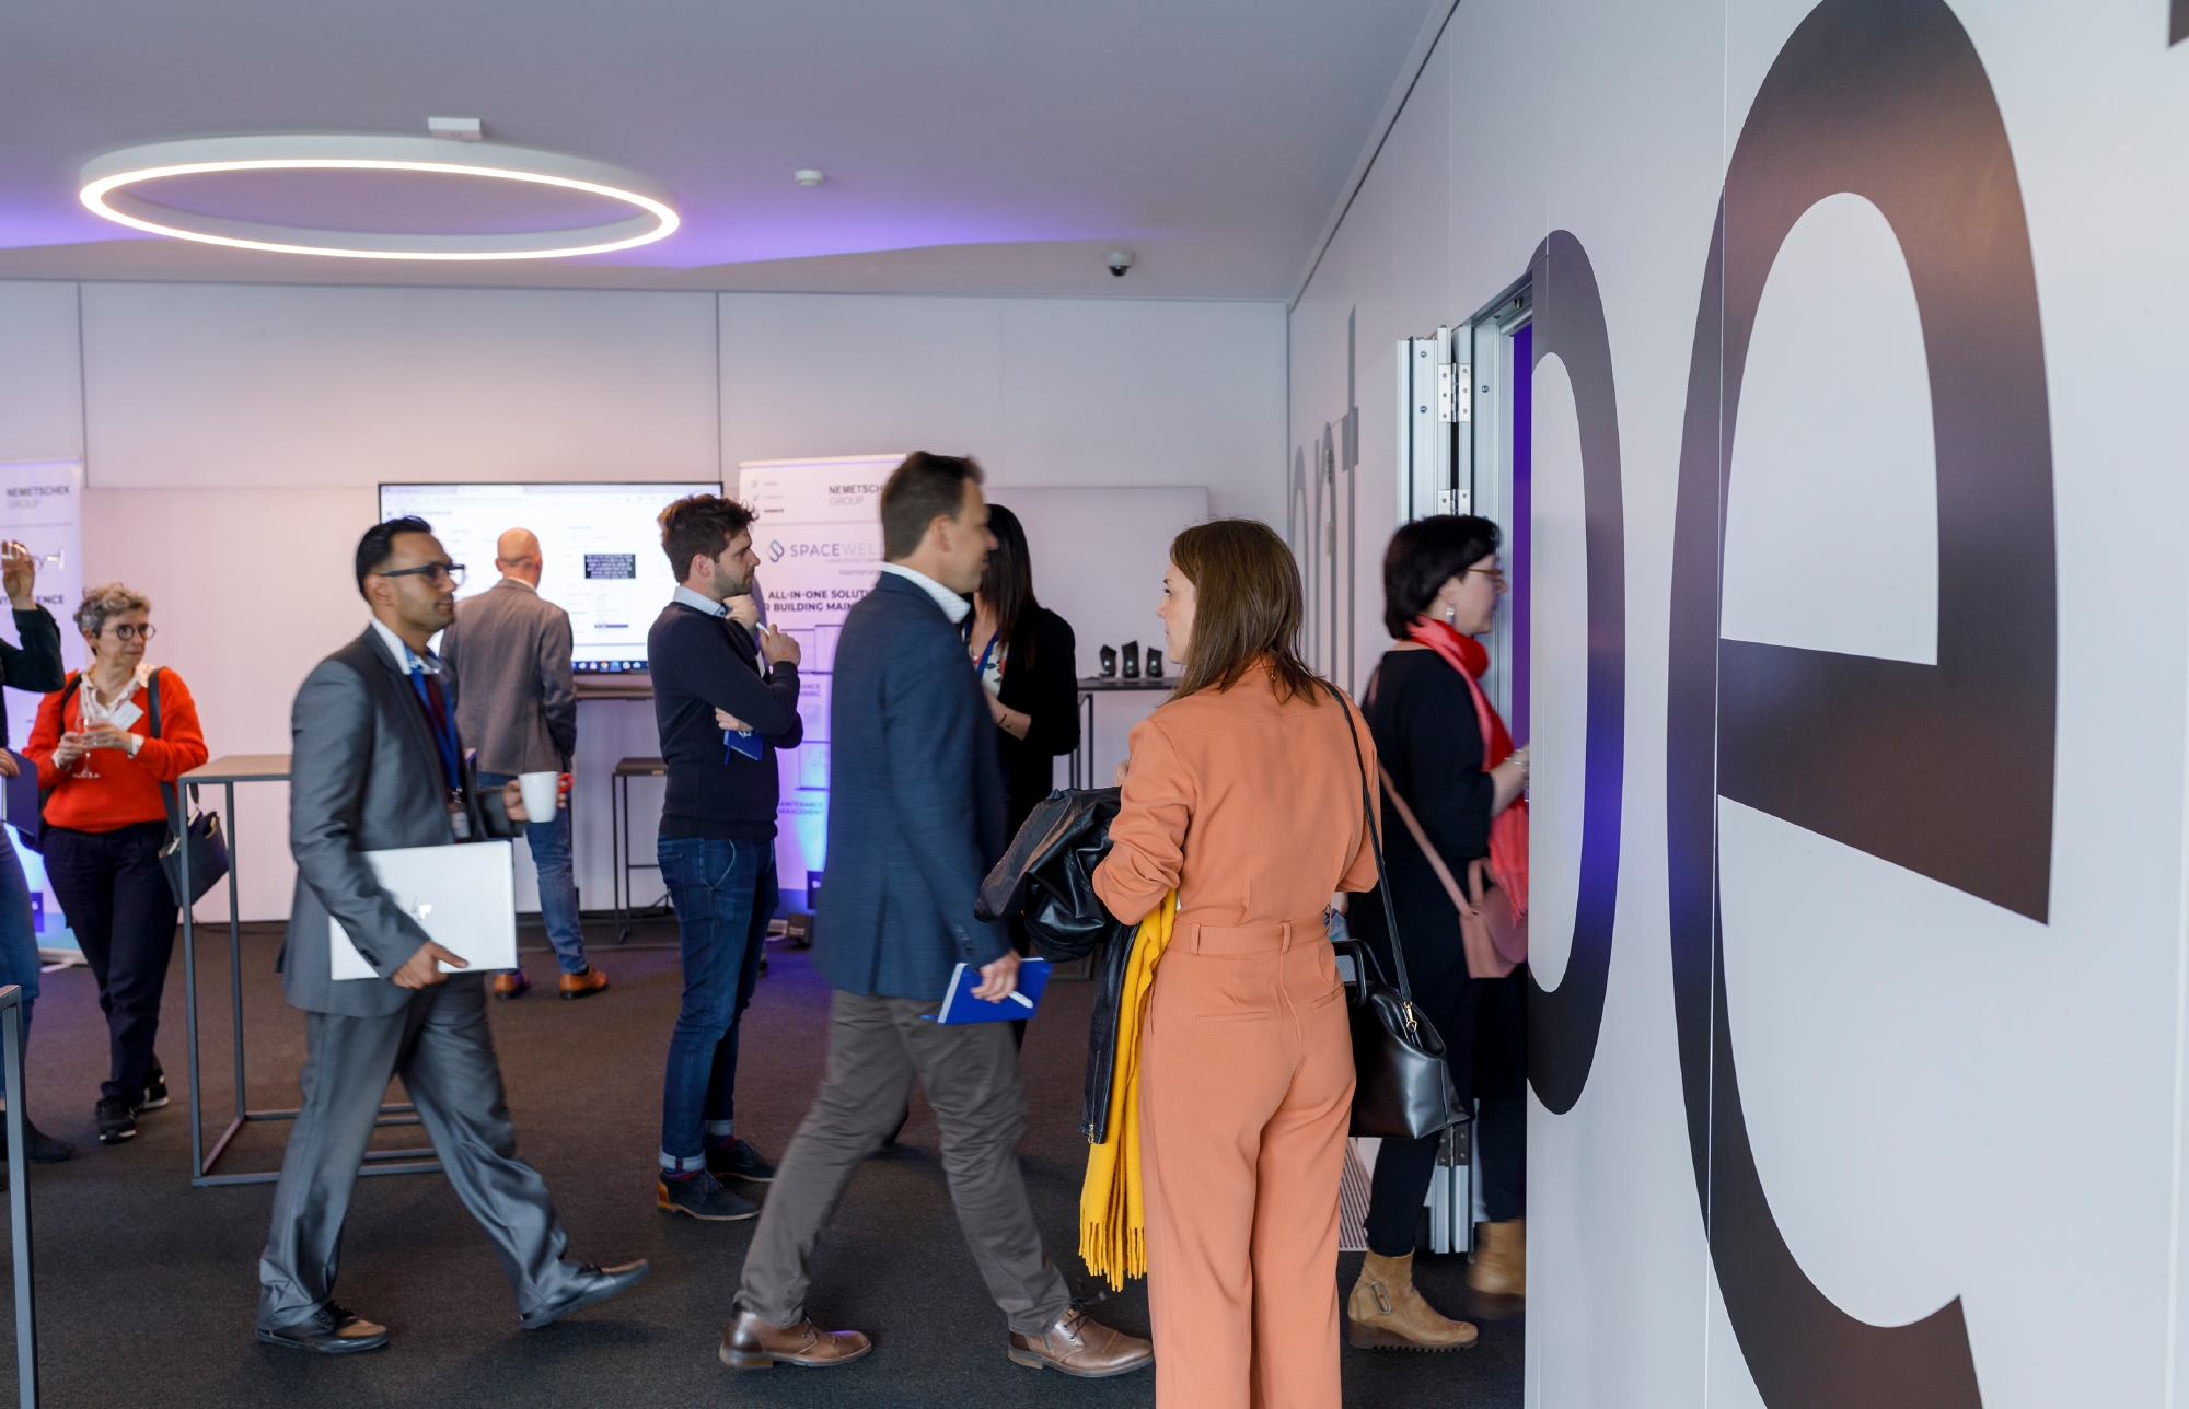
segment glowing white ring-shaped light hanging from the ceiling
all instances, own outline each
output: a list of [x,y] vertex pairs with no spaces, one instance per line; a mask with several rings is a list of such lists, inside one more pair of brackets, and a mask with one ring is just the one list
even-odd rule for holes
[[[147,201],[131,186],[160,177],[225,171],[401,171],[427,175],[530,182],[582,190],[633,206],[637,212],[606,225],[523,230],[495,234],[403,234],[381,230],[315,230],[269,225]],[[361,260],[530,260],[606,254],[668,238],[681,223],[674,197],[648,177],[556,151],[444,142],[409,136],[245,136],[151,142],[92,158],[83,164],[83,203],[109,221],[182,241],[328,254]]]

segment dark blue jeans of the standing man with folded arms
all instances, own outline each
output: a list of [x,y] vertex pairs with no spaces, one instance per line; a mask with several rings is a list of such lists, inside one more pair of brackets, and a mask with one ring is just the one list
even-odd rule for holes
[[661,1081],[661,1168],[707,1164],[707,1138],[736,1120],[738,1015],[753,1002],[775,917],[775,842],[663,836],[661,880],[676,906],[685,993]]

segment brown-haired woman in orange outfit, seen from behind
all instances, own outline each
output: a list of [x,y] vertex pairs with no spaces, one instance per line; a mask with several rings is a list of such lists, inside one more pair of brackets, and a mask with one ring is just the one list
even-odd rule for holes
[[1300,661],[1267,525],[1180,534],[1158,615],[1184,672],[1132,731],[1094,871],[1125,923],[1178,890],[1140,1035],[1156,1402],[1335,1409],[1353,1046],[1324,908],[1375,886],[1375,742]]

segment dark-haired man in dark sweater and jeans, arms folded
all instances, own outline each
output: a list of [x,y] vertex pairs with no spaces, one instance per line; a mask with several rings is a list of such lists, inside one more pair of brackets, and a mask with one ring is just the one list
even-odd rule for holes
[[676,906],[683,1009],[661,1083],[655,1201],[694,1219],[751,1219],[760,1206],[720,1177],[766,1184],[775,1166],[736,1136],[738,1015],[753,1000],[775,917],[775,750],[797,748],[799,643],[757,637],[722,602],[749,591],[753,514],[692,494],[661,510],[661,551],[681,586],[646,632],[655,724],[668,764],[661,880]]

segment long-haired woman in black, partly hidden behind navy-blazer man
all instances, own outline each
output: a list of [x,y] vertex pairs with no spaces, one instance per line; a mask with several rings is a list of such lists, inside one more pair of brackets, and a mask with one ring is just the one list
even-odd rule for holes
[[[1005,827],[1018,836],[1033,805],[1055,785],[1055,759],[1079,748],[1079,665],[1073,628],[1033,599],[1033,558],[1018,514],[987,505],[987,556],[968,617],[965,650],[987,687],[1003,753]],[[1011,939],[1027,952],[1027,930],[1011,917]]]

